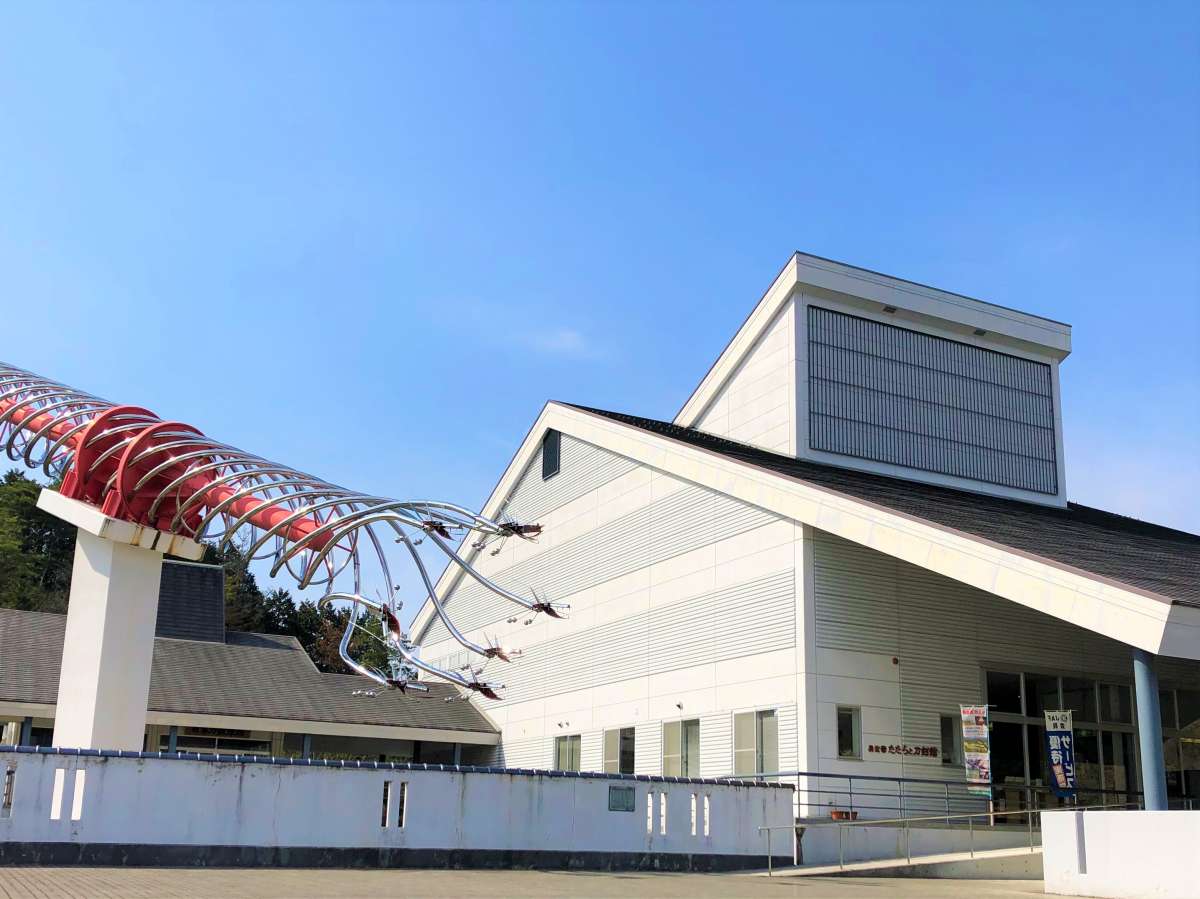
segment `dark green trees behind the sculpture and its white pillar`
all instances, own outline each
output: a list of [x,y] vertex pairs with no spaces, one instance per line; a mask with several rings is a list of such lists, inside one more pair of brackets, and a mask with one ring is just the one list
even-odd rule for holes
[[[71,592],[76,529],[37,508],[41,485],[13,469],[0,479],[0,609],[65,612]],[[349,619],[348,609],[318,609],[296,603],[286,589],[263,592],[240,546],[209,546],[204,561],[224,568],[228,630],[294,636],[322,671],[346,672],[337,648]],[[386,653],[377,639],[379,622],[366,612],[352,641],[355,658],[386,670]]]

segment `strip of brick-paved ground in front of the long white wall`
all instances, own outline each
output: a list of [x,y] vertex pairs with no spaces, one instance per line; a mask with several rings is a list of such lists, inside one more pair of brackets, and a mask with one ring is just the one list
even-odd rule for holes
[[892,899],[1042,895],[1040,881],[810,877],[731,874],[593,874],[167,868],[0,868],[0,899],[448,899],[464,897],[804,897]]

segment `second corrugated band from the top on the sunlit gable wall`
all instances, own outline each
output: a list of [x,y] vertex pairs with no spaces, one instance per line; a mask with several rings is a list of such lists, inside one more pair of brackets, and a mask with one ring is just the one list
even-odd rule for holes
[[[565,469],[558,478],[572,477]],[[556,478],[554,480],[557,480]],[[562,600],[598,583],[664,562],[772,521],[770,513],[702,487],[685,487],[636,511],[581,534],[497,573],[497,583],[528,593],[534,588]],[[517,606],[475,581],[463,579],[448,607],[455,623],[470,631],[515,613]],[[421,637],[433,646],[450,634],[434,619]]]

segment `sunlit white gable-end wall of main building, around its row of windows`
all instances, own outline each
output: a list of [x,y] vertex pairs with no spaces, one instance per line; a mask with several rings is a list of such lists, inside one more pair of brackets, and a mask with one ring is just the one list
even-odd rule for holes
[[[522,651],[484,673],[505,685],[482,703],[504,763],[551,766],[554,738],[580,733],[581,765],[599,771],[604,731],[634,725],[636,771],[658,774],[662,721],[683,715],[702,720],[702,769],[727,775],[728,708],[748,701],[791,708],[781,753],[794,757],[794,525],[565,436],[563,446],[559,474],[542,483],[535,461],[508,505],[546,523],[542,538],[509,541],[481,564],[499,583],[569,601],[570,618],[526,627],[527,613],[466,581],[448,600],[469,636]],[[434,623],[425,658],[455,658],[446,637]]]

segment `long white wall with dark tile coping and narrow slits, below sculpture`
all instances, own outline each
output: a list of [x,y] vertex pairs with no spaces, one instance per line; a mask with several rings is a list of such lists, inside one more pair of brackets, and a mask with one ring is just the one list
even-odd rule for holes
[[781,786],[454,766],[0,750],[0,775],[18,864],[744,868],[792,814]]

